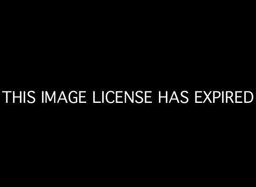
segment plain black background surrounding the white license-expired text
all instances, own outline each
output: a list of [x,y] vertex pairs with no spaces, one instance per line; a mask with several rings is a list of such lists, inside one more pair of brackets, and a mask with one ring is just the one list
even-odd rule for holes
[[[5,176],[131,184],[250,178],[255,101],[196,105],[193,96],[255,94],[247,7],[42,7],[3,13],[1,91],[152,90],[154,104],[2,102]],[[187,105],[157,104],[157,91],[183,90]]]

